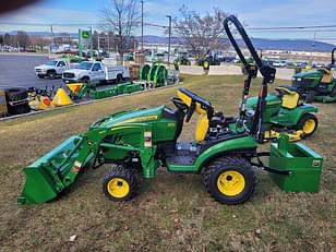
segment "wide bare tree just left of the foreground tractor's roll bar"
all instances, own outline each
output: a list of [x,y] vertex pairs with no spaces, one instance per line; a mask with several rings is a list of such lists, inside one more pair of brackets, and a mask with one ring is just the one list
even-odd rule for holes
[[223,21],[229,13],[214,8],[213,14],[201,16],[195,11],[190,11],[185,5],[180,8],[181,20],[175,19],[175,27],[182,39],[200,56],[208,49],[224,49],[227,45]]

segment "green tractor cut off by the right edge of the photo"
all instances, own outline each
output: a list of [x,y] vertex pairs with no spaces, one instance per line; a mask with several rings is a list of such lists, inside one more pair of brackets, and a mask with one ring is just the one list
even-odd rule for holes
[[308,103],[313,100],[332,103],[336,101],[336,79],[333,77],[332,68],[335,68],[336,48],[332,51],[332,62],[326,68],[303,71],[292,77],[292,86],[305,97]]

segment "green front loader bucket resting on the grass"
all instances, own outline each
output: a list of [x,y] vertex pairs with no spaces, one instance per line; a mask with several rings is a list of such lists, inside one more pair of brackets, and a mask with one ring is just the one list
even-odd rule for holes
[[73,135],[59,146],[25,167],[26,181],[19,204],[43,203],[50,201],[71,182],[69,171],[75,166],[83,137]]

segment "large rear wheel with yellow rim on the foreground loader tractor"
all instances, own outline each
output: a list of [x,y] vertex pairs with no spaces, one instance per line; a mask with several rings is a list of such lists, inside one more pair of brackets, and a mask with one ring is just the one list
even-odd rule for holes
[[216,158],[203,172],[203,182],[212,196],[228,205],[247,201],[256,183],[251,164],[241,157]]

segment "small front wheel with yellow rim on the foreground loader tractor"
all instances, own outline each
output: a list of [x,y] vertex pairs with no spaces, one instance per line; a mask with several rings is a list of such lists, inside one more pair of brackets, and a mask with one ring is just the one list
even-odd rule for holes
[[129,201],[135,195],[136,190],[136,175],[123,166],[112,168],[104,178],[103,191],[111,201]]

